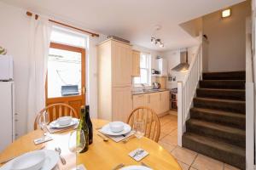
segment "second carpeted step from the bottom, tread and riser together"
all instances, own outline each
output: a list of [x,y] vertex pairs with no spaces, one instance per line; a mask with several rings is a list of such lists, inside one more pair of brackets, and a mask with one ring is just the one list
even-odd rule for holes
[[196,133],[214,139],[219,139],[230,144],[245,147],[245,130],[236,127],[228,127],[213,122],[205,122],[190,118],[186,122],[187,132]]

